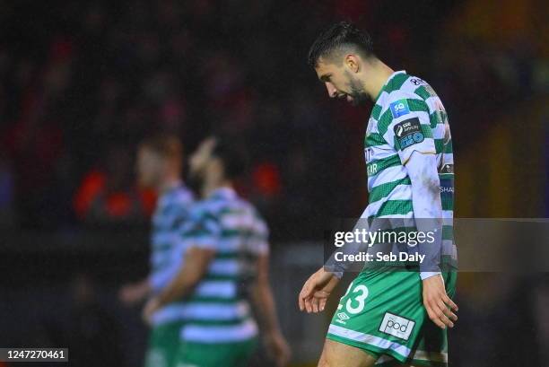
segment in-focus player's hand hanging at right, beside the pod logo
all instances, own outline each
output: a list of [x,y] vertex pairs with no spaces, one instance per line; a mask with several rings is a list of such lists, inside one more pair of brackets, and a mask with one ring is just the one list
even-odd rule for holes
[[423,305],[429,319],[439,328],[454,328],[457,316],[457,304],[450,300],[444,288],[442,275],[433,275],[423,279]]

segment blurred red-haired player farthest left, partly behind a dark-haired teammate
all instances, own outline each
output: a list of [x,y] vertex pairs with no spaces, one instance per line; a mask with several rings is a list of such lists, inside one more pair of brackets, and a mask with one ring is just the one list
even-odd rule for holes
[[[183,262],[185,242],[181,233],[188,223],[193,195],[181,180],[182,146],[174,136],[156,136],[138,149],[136,170],[139,184],[159,193],[153,214],[151,274],[120,291],[126,304],[158,294],[177,274]],[[171,367],[179,348],[181,304],[170,302],[150,317],[152,327],[145,367]]]

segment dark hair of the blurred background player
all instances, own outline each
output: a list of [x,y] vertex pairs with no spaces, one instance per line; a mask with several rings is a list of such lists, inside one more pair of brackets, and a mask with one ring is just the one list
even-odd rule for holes
[[234,136],[215,135],[213,138],[212,155],[222,161],[225,179],[238,179],[248,169],[243,142]]

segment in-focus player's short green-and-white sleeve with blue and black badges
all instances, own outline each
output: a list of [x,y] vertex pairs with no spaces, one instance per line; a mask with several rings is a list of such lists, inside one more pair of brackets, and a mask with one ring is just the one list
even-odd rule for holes
[[383,138],[393,147],[402,164],[412,153],[436,153],[429,107],[414,93],[391,93],[388,108],[379,120]]

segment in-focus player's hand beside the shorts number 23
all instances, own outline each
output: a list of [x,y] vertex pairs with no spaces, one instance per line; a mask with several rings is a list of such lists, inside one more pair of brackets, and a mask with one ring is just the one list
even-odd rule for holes
[[321,267],[315,274],[310,275],[307,282],[303,284],[299,295],[300,310],[308,313],[318,313],[326,307],[327,298],[339,283],[339,279]]

